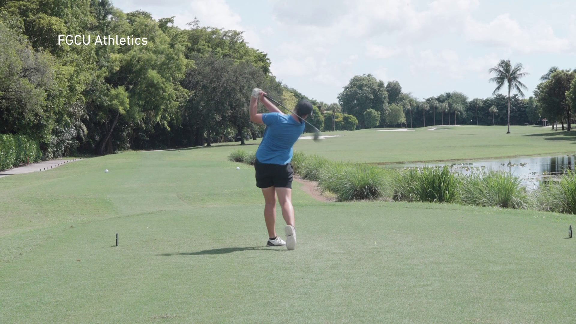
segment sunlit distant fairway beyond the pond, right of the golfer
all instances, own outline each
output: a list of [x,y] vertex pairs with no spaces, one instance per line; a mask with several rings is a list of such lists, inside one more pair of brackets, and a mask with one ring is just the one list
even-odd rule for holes
[[[435,128],[435,130],[429,130]],[[550,127],[431,126],[414,131],[325,131],[343,135],[317,144],[300,140],[295,150],[331,160],[369,163],[489,159],[576,152],[576,132],[551,131]]]

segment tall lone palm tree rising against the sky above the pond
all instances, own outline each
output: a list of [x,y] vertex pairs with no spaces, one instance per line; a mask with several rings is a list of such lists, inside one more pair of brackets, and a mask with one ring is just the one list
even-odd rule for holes
[[[524,92],[522,92],[522,89],[528,91],[528,88],[520,82],[520,78],[528,76],[529,74],[521,72],[523,69],[524,67],[522,67],[522,63],[516,63],[516,65],[512,67],[509,59],[502,59],[498,62],[497,66],[488,70],[489,73],[496,74],[495,77],[490,78],[490,82],[496,84],[496,89],[492,92],[492,96],[495,96],[498,91],[504,87],[505,83],[508,84],[508,131],[506,134],[510,134],[510,92],[514,89],[518,92],[520,97],[524,98]],[[492,120],[492,122],[494,122],[494,120]]]

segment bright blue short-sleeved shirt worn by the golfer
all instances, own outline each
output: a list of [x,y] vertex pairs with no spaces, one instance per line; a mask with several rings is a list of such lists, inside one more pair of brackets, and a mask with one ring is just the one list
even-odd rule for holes
[[262,121],[266,129],[256,150],[256,159],[267,164],[290,163],[292,146],[304,132],[305,123],[280,112],[262,114]]

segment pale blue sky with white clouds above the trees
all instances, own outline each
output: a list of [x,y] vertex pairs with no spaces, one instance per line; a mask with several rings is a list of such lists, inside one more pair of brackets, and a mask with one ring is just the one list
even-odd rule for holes
[[325,103],[354,76],[400,82],[418,99],[492,95],[490,67],[522,63],[533,94],[550,69],[576,68],[573,0],[112,0],[124,12],[175,16],[187,28],[244,31],[276,80]]

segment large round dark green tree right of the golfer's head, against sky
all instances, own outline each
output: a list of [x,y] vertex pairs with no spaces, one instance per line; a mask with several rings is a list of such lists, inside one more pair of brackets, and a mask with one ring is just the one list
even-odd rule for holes
[[373,109],[382,116],[388,106],[388,92],[383,81],[377,80],[372,74],[363,74],[351,78],[338,95],[338,101],[342,112],[356,117],[359,126],[365,128],[364,112]]

